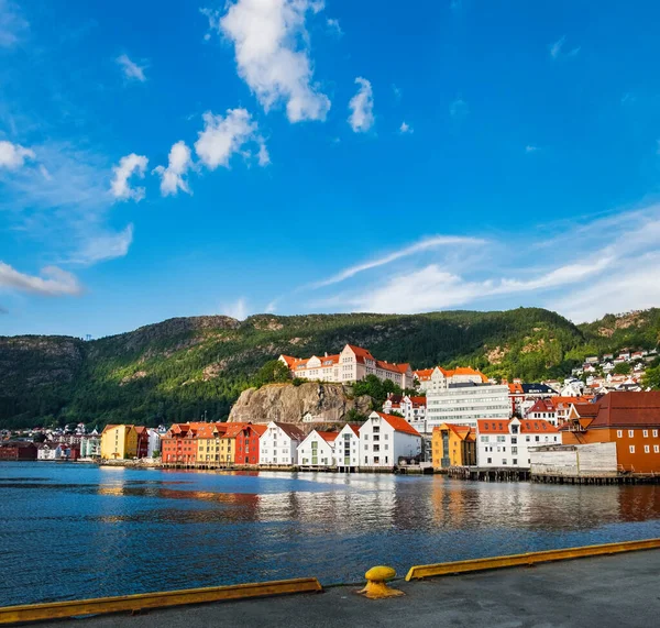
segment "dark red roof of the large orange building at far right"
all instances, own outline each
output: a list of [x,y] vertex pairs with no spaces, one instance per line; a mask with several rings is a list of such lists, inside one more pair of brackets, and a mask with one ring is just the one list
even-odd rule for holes
[[598,414],[591,428],[659,427],[660,390],[605,395],[598,403]]

